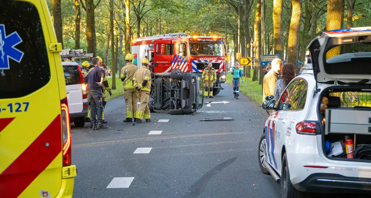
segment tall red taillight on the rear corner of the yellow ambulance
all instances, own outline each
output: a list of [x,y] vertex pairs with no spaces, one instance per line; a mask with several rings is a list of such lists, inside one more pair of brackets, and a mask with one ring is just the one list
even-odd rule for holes
[[67,98],[60,100],[60,111],[62,118],[63,166],[69,166],[71,165],[71,128]]

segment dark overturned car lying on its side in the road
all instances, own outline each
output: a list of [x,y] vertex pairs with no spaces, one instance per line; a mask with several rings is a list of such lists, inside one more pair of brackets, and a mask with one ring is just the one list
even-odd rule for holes
[[183,115],[203,106],[203,80],[193,73],[172,69],[170,73],[151,73],[151,112]]

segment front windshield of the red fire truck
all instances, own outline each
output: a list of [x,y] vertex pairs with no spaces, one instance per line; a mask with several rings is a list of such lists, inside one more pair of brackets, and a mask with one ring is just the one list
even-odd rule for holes
[[190,39],[191,56],[223,56],[223,40],[221,39]]

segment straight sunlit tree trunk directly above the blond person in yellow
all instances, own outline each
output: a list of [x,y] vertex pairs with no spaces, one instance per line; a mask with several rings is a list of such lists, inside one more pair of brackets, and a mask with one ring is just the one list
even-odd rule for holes
[[282,0],[273,0],[273,46],[275,54],[283,59]]

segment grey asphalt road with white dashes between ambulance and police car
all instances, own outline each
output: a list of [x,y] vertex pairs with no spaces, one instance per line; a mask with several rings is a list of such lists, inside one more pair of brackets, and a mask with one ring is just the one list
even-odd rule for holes
[[[205,101],[228,103],[204,105],[193,115],[152,113],[152,122],[135,126],[122,122],[123,97],[109,100],[109,129],[72,129],[74,197],[280,197],[279,185],[258,164],[265,110],[243,95],[234,99],[229,84],[223,87]],[[223,117],[234,120],[200,122]]]

